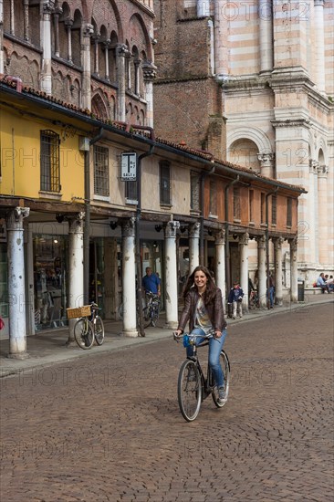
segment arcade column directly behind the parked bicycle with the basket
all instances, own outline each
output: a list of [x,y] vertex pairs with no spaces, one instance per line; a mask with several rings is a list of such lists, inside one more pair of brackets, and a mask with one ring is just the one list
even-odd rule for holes
[[[85,213],[68,218],[68,307],[78,308],[84,301],[83,227]],[[68,319],[67,345],[74,345],[74,325]]]

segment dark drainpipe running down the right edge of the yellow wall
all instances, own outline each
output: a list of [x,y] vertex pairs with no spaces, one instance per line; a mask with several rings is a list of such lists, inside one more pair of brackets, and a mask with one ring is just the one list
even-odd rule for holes
[[85,225],[83,235],[84,245],[84,304],[89,303],[89,229],[90,229],[90,176],[89,176],[89,159],[90,147],[103,136],[103,127],[100,128],[99,134],[89,140],[89,151],[85,152]]

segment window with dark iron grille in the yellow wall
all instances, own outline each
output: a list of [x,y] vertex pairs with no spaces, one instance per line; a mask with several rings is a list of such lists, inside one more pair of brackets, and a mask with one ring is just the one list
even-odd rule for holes
[[40,189],[60,192],[60,139],[54,131],[40,131]]

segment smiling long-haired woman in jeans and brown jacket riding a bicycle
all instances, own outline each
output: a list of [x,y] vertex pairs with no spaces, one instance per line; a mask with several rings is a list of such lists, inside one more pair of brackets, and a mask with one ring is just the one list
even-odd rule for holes
[[[196,267],[188,277],[183,290],[184,308],[176,330],[181,335],[189,321],[190,334],[204,337],[214,332],[209,340],[209,364],[218,387],[219,400],[224,401],[224,376],[220,364],[220,352],[226,338],[222,292],[214,284],[214,279],[206,267]],[[199,345],[204,338],[196,338]],[[193,347],[187,347],[187,357],[192,357]]]

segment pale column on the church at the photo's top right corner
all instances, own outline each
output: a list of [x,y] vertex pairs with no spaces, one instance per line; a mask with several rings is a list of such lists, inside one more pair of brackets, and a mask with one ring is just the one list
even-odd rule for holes
[[325,26],[324,0],[314,0],[314,34],[315,34],[315,81],[319,92],[325,92]]

